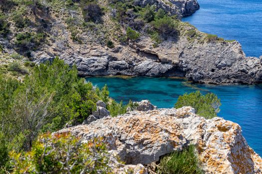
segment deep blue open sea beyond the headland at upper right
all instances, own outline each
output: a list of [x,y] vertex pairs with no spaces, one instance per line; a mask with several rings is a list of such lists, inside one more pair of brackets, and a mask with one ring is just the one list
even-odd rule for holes
[[262,55],[262,0],[198,0],[200,9],[183,18],[200,31],[238,40],[247,56]]

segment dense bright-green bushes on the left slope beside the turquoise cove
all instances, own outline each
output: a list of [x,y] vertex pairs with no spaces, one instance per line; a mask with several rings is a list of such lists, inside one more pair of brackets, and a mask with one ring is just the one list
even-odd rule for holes
[[39,133],[81,124],[98,100],[113,116],[128,107],[110,99],[106,86],[100,90],[78,78],[76,67],[59,59],[35,66],[22,83],[0,76],[1,167],[9,168],[8,151],[30,150]]

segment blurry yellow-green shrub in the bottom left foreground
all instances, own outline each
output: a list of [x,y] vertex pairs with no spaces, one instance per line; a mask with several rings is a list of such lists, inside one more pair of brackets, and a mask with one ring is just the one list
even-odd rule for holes
[[11,152],[14,174],[108,174],[110,155],[101,138],[80,143],[70,134],[39,136],[30,152]]

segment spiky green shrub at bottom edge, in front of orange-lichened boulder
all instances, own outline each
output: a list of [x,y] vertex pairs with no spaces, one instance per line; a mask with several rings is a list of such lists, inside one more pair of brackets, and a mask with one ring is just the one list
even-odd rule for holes
[[190,145],[183,151],[175,151],[160,160],[159,174],[203,174],[199,168],[199,160],[195,155],[195,147]]

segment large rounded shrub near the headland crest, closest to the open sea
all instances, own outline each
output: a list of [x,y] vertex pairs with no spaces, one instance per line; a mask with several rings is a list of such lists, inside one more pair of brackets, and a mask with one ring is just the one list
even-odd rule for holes
[[175,30],[176,25],[170,16],[165,15],[163,18],[157,18],[152,22],[155,29],[161,33],[171,33]]

